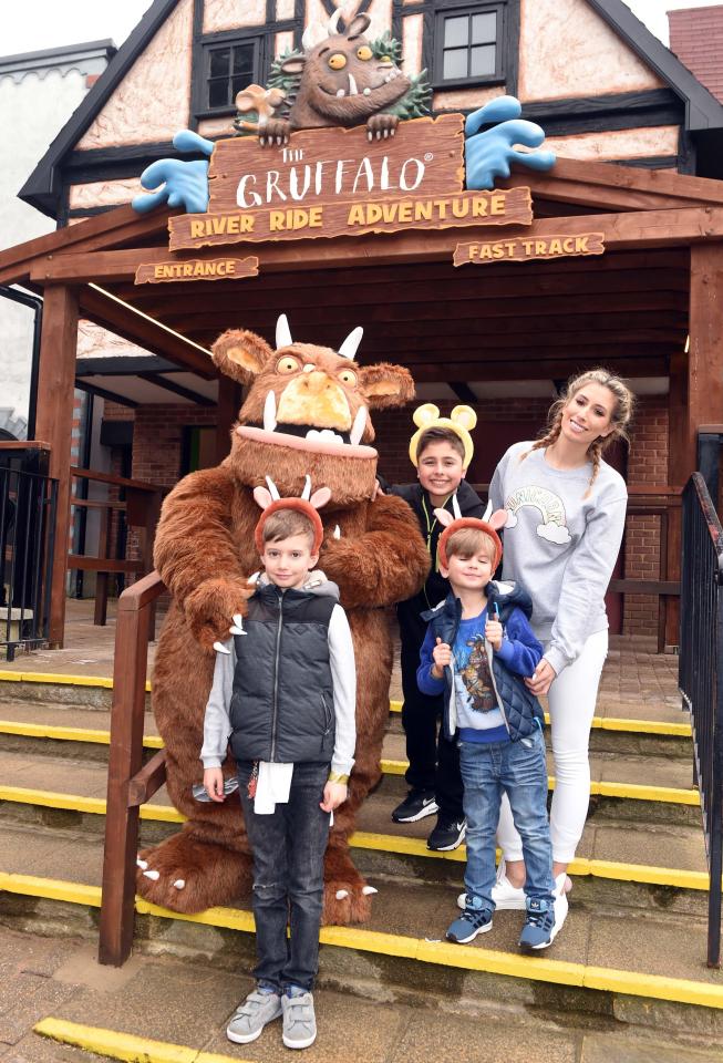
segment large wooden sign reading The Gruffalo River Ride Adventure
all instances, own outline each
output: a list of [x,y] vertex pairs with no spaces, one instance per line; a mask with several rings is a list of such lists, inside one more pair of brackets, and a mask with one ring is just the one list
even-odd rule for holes
[[207,214],[169,218],[171,250],[533,220],[527,187],[464,190],[459,114],[372,142],[365,127],[303,130],[287,146],[219,141],[209,189]]

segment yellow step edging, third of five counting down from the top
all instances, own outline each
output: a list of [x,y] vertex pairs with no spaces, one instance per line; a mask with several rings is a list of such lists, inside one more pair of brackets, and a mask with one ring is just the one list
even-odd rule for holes
[[[82,812],[90,815],[105,815],[105,801],[100,797],[83,797],[79,794],[56,794],[44,789],[25,789],[20,786],[0,786],[0,802],[39,805],[43,808],[62,808],[69,812]],[[161,823],[185,823],[186,817],[171,805],[141,805],[142,819]],[[392,853],[399,856],[425,857],[427,859],[451,860],[464,864],[466,847],[461,845],[448,853],[428,849],[423,838],[410,838],[404,835],[373,834],[357,830],[349,838],[354,849],[372,849]],[[649,886],[673,886],[678,889],[706,891],[709,877],[705,871],[688,871],[682,868],[654,867],[648,864],[620,864],[614,860],[593,860],[581,857],[572,860],[570,875],[592,876],[618,881],[639,883]]]

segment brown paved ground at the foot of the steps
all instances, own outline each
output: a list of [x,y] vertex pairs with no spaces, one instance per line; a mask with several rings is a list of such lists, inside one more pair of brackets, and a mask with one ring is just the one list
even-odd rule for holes
[[[49,1016],[188,1045],[241,1061],[281,1063],[289,1051],[275,1022],[249,1045],[224,1035],[228,1015],[251,987],[198,961],[134,957],[121,970],[100,967],[93,947],[0,927],[0,1060],[82,1063],[89,1056],[32,1032]],[[319,1038],[304,1063],[714,1063],[720,1050],[663,1044],[623,1024],[597,1030],[559,1026],[510,1005],[488,1019],[451,1008],[360,1000],[342,991],[316,994]]]

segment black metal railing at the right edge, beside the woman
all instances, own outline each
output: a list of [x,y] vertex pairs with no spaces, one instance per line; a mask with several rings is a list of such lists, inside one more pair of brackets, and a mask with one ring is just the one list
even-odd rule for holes
[[683,492],[678,684],[691,712],[710,875],[707,964],[721,966],[723,802],[723,527],[701,473]]

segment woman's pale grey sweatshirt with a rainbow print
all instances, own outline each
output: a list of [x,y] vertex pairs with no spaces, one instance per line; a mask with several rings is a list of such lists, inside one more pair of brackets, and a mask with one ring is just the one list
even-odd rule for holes
[[605,594],[626,519],[626,483],[606,462],[588,491],[592,465],[557,469],[543,450],[515,443],[489,485],[493,509],[507,509],[505,579],[533,599],[531,627],[559,675],[586,639],[608,626]]

